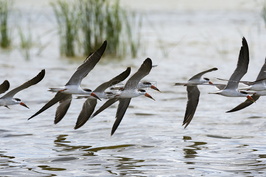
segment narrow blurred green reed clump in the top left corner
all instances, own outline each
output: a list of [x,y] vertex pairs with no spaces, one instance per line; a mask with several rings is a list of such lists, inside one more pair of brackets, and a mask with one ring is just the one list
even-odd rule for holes
[[11,37],[8,32],[7,19],[13,5],[12,0],[0,0],[0,46],[7,48],[10,46]]

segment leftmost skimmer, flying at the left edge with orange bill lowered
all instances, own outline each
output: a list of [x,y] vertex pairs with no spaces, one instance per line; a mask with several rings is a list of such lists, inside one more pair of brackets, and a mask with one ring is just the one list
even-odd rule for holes
[[[18,86],[17,88],[14,88],[13,90],[7,92],[4,96],[2,96],[0,98],[0,106],[7,107],[7,105],[20,104],[20,105],[28,108],[28,106],[26,106],[25,103],[23,103],[18,98],[13,98],[13,96],[16,93],[18,93],[19,91],[22,91],[22,90],[40,82],[44,78],[44,75],[45,75],[45,70],[43,69],[43,70],[41,70],[41,72],[37,76],[35,76],[31,80],[25,82],[21,86]],[[9,88],[9,82],[6,80],[0,86],[0,93],[4,93],[6,90],[8,90],[8,88]]]

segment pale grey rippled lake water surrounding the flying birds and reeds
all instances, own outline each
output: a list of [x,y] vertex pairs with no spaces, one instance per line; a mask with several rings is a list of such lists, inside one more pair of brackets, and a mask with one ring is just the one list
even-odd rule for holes
[[[84,58],[60,57],[56,33],[42,39],[43,43],[54,40],[41,55],[32,48],[30,61],[15,48],[0,50],[1,83],[7,79],[9,90],[41,69],[46,71],[41,82],[15,95],[30,109],[0,107],[0,176],[266,176],[266,97],[225,113],[246,98],[207,94],[216,89],[199,86],[197,110],[184,129],[186,87],[173,86],[213,67],[218,70],[204,77],[226,83],[214,77],[230,78],[243,36],[250,63],[242,80],[254,81],[266,55],[263,1],[121,3],[143,15],[142,52],[135,59],[103,57],[82,86],[93,90],[128,66],[133,73],[149,57],[158,66],[143,80],[155,82],[162,93],[148,90],[156,101],[144,96],[132,99],[112,137],[117,104],[77,130],[73,128],[85,99],[73,99],[56,125],[57,105],[27,120],[53,98],[48,87],[63,86]],[[30,12],[35,34],[56,28],[49,1],[16,2],[16,8]],[[96,109],[104,102],[98,101]]]

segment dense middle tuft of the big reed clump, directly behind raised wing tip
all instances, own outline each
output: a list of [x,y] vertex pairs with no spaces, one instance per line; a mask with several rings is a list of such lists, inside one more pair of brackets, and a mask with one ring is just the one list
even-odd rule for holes
[[79,6],[85,55],[101,46],[104,40],[109,44],[105,53],[116,55],[123,23],[119,1],[110,4],[108,0],[79,0]]

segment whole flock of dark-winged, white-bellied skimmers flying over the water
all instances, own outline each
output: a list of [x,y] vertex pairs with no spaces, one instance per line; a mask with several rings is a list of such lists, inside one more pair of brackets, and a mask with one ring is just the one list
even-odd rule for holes
[[[95,52],[91,53],[87,59],[79,65],[74,74],[70,77],[65,86],[61,87],[51,87],[48,91],[56,92],[54,98],[48,101],[39,111],[37,111],[34,115],[32,115],[29,119],[39,115],[44,112],[49,107],[58,103],[58,107],[56,109],[54,124],[57,124],[67,113],[67,110],[71,104],[72,95],[82,95],[76,96],[76,99],[85,98],[86,101],[82,106],[82,110],[79,113],[77,118],[76,125],[74,129],[78,129],[83,126],[88,120],[97,116],[100,112],[104,111],[107,107],[111,106],[115,102],[118,101],[118,108],[115,116],[115,122],[111,131],[111,136],[114,134],[118,125],[120,124],[127,108],[130,104],[132,98],[138,96],[146,96],[150,99],[153,99],[151,95],[149,95],[144,89],[151,88],[156,91],[161,92],[157,87],[152,85],[150,82],[142,82],[141,79],[147,76],[152,67],[156,67],[157,65],[152,65],[152,60],[150,58],[145,59],[139,69],[132,74],[129,79],[126,81],[124,85],[118,85],[122,81],[124,81],[130,74],[131,68],[128,67],[124,72],[119,74],[118,76],[112,78],[111,80],[104,82],[100,86],[98,86],[94,91],[88,88],[82,88],[80,86],[81,81],[84,77],[88,75],[88,73],[95,67],[95,65],[100,61],[101,56],[103,55],[105,48],[107,46],[107,41],[105,40],[102,46]],[[227,97],[247,97],[247,100],[243,103],[240,103],[238,106],[233,108],[228,112],[234,112],[241,110],[256,100],[259,99],[260,96],[266,95],[266,59],[264,61],[264,65],[262,66],[260,73],[257,76],[256,81],[254,82],[246,82],[240,81],[241,78],[247,73],[249,63],[249,50],[246,39],[242,38],[242,47],[239,52],[237,67],[234,70],[234,73],[231,75],[229,80],[220,79],[228,81],[227,84],[213,84],[208,78],[202,78],[202,76],[208,72],[218,70],[217,68],[212,68],[210,70],[203,71],[199,74],[196,74],[192,78],[190,78],[186,82],[178,82],[174,83],[174,86],[187,86],[187,107],[184,116],[183,124],[186,124],[184,128],[188,126],[191,122],[198,102],[199,102],[199,89],[198,85],[209,85],[214,86],[218,89],[218,91],[210,92],[209,94],[218,94]],[[4,96],[0,98],[0,106],[5,106],[7,108],[8,105],[20,104],[24,107],[27,107],[25,103],[23,103],[18,98],[13,98],[16,93],[21,90],[24,90],[32,85],[40,82],[45,76],[45,70],[41,70],[41,72],[28,82],[25,82],[21,86],[9,91]],[[247,85],[247,87],[238,89],[238,84],[242,83]],[[0,94],[6,92],[9,89],[9,82],[5,80],[0,85]],[[109,88],[109,91],[105,91]],[[252,96],[250,96],[252,95]],[[97,104],[97,99],[107,99],[107,101],[96,111],[94,109]],[[153,99],[155,100],[155,99]],[[28,108],[28,107],[27,107]],[[93,113],[94,112],[94,113]],[[93,113],[93,114],[92,114]]]

